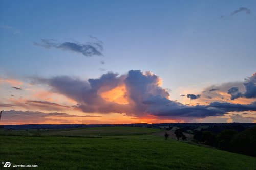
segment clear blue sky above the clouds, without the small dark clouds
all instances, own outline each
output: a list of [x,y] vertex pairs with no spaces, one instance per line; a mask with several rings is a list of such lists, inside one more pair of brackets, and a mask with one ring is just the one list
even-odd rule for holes
[[[170,99],[184,102],[183,92],[242,82],[255,72],[255,11],[255,1],[0,1],[0,76],[151,71]],[[90,36],[103,42],[103,56],[33,44],[87,43],[95,40]]]

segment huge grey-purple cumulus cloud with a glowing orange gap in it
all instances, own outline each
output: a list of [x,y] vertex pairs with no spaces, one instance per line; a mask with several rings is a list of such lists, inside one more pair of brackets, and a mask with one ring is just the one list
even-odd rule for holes
[[[212,102],[208,105],[187,106],[172,101],[168,91],[160,86],[161,79],[157,75],[140,70],[130,70],[124,75],[109,72],[98,79],[88,80],[69,76],[35,80],[49,85],[52,91],[75,100],[77,105],[74,107],[86,113],[124,113],[137,117],[207,117],[220,116],[231,111],[256,110],[256,103],[242,105]],[[102,93],[117,87],[124,87],[125,90],[120,95],[127,103],[113,102],[102,96]]]

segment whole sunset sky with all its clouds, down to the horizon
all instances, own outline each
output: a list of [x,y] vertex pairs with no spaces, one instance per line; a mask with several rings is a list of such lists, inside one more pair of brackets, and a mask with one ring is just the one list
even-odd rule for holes
[[255,1],[0,0],[0,124],[256,122]]

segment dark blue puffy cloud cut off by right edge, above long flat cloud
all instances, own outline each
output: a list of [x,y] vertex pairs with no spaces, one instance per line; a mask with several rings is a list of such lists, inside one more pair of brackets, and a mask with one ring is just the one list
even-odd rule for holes
[[231,100],[237,98],[256,98],[256,72],[251,77],[245,79],[243,85],[245,87],[244,93],[240,92],[238,87],[232,87],[228,90],[227,93],[231,95]]

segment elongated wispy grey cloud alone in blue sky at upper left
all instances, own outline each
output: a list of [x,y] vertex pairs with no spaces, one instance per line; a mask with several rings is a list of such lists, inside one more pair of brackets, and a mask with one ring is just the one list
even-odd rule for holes
[[80,53],[86,57],[102,56],[103,43],[97,40],[97,42],[82,44],[79,42],[59,42],[54,39],[41,39],[41,42],[33,42],[36,46],[44,48],[57,48],[60,50],[68,50],[76,53]]

